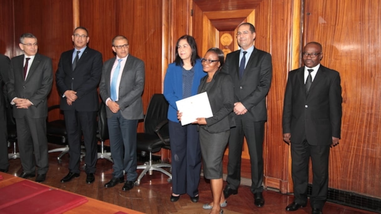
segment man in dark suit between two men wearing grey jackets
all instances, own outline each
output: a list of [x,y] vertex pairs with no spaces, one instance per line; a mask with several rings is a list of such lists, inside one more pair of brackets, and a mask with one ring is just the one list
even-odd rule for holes
[[86,149],[86,183],[90,184],[95,179],[97,86],[102,73],[102,54],[87,46],[89,40],[87,29],[77,27],[72,35],[74,50],[61,54],[56,72],[70,155],[69,173],[61,182],[68,182],[79,176],[82,133]]

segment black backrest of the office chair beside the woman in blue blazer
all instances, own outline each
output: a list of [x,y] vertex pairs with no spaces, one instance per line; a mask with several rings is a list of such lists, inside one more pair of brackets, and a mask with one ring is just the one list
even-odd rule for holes
[[[155,134],[155,126],[162,121],[167,120],[168,114],[168,102],[164,98],[163,94],[154,94],[149,101],[146,116],[144,117],[144,132],[148,134]],[[165,125],[161,131],[161,134],[167,136],[168,125]]]

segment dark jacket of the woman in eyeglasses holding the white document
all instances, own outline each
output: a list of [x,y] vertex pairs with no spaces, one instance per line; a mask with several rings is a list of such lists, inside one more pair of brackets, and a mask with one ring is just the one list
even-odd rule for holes
[[234,119],[229,117],[234,107],[233,81],[227,73],[216,72],[205,90],[208,75],[200,81],[197,93],[207,92],[213,117],[206,118],[207,125],[201,128],[210,133],[227,131],[235,126]]

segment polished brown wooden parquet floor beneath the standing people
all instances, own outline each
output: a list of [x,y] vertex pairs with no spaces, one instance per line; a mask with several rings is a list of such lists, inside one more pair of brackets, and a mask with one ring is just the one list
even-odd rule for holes
[[[50,149],[57,145],[49,144]],[[9,151],[11,152],[11,150]],[[62,163],[58,163],[57,153],[50,153],[49,163],[50,168],[43,184],[51,185],[56,188],[61,188],[80,195],[85,195],[108,203],[117,204],[129,209],[134,209],[147,214],[207,214],[208,210],[202,209],[202,205],[212,201],[210,192],[210,184],[208,180],[200,179],[198,203],[192,203],[188,195],[181,195],[180,200],[176,202],[170,201],[171,184],[167,182],[167,176],[155,171],[152,176],[148,174],[143,177],[141,184],[135,186],[132,190],[123,192],[123,184],[118,184],[112,188],[105,188],[106,184],[112,178],[112,163],[105,159],[99,159],[97,162],[97,171],[95,182],[86,184],[86,174],[81,172],[80,177],[77,177],[70,182],[61,183],[62,177],[68,173],[69,156],[65,155],[62,158]],[[82,162],[83,164],[83,162]],[[10,160],[9,174],[18,176],[21,173],[20,159]],[[140,173],[141,170],[138,170]],[[34,180],[35,178],[30,178]],[[241,186],[237,195],[232,195],[227,200],[227,207],[223,208],[224,214],[306,214],[311,213],[311,207],[301,208],[298,211],[287,212],[285,207],[293,201],[292,195],[284,195],[275,191],[266,190],[263,193],[265,205],[263,208],[258,208],[254,205],[253,194],[250,192],[250,187]],[[99,213],[96,210],[88,213]],[[347,206],[342,206],[333,203],[326,203],[323,209],[325,214],[369,214],[360,209],[355,209]]]

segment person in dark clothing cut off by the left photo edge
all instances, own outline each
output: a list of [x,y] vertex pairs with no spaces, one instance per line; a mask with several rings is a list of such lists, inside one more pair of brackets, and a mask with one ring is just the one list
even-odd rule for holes
[[8,142],[5,117],[5,83],[8,80],[9,58],[0,54],[0,172],[7,172],[8,162]]

